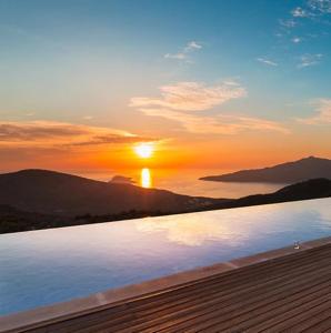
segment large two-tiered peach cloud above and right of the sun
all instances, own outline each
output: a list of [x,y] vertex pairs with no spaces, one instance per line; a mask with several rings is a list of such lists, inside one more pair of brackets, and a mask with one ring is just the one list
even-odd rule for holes
[[282,124],[264,119],[233,114],[205,115],[198,112],[245,97],[245,89],[238,82],[223,82],[214,87],[179,82],[163,85],[160,90],[161,98],[132,98],[130,107],[149,117],[175,121],[190,133],[237,134],[243,130],[289,132]]

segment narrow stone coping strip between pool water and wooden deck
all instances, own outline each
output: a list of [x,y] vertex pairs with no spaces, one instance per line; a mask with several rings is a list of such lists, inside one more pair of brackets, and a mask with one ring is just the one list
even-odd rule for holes
[[201,279],[211,278],[221,273],[234,271],[244,266],[258,264],[264,261],[294,254],[309,249],[331,244],[331,236],[300,243],[297,246],[285,246],[277,250],[198,268],[190,271],[167,275],[159,279],[144,281],[118,289],[110,289],[90,296],[73,299],[71,301],[40,306],[19,313],[0,316],[0,332],[23,332],[38,329],[44,324],[56,323],[91,312],[108,309],[132,299],[143,299],[150,294],[163,293],[171,289],[194,283]]

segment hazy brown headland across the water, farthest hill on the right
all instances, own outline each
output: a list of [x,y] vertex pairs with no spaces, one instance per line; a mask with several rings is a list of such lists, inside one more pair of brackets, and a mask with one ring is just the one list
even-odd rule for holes
[[200,178],[219,182],[297,183],[314,178],[331,179],[331,160],[314,157],[263,169],[242,170],[221,175]]

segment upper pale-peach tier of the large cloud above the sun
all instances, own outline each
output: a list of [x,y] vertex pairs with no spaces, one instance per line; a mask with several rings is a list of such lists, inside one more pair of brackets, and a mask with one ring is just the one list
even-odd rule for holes
[[247,95],[244,88],[225,83],[208,87],[199,82],[179,82],[162,85],[160,91],[161,98],[132,98],[130,107],[161,107],[180,111],[200,111]]

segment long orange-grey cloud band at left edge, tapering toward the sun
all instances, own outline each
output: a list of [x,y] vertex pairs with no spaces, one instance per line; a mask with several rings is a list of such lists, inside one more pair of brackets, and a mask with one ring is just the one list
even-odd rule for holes
[[63,148],[153,141],[129,132],[54,121],[0,122],[0,147]]

